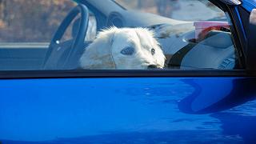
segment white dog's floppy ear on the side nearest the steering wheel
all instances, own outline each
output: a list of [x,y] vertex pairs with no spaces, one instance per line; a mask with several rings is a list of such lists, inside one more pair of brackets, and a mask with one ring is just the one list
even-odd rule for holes
[[111,46],[114,41],[114,34],[118,28],[111,27],[108,30],[102,30],[97,38],[86,47],[86,50],[80,58],[82,69],[90,70],[111,70],[115,69],[115,63],[111,54]]

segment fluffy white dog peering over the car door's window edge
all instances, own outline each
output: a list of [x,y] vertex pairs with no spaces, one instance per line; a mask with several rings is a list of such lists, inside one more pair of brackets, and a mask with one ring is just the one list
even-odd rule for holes
[[80,66],[90,70],[145,70],[163,68],[165,60],[150,30],[112,27],[86,47]]

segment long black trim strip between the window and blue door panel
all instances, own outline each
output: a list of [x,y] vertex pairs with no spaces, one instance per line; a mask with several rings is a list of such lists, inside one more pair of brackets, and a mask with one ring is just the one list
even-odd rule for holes
[[0,79],[27,78],[206,78],[254,77],[248,70],[6,70]]

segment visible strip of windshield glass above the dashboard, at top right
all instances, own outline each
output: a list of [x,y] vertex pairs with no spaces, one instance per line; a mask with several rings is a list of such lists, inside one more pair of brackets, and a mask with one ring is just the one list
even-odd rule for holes
[[[114,0],[127,10],[138,10],[177,20],[226,20],[226,15],[205,0]],[[197,11],[195,11],[195,9]]]

